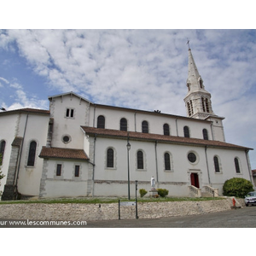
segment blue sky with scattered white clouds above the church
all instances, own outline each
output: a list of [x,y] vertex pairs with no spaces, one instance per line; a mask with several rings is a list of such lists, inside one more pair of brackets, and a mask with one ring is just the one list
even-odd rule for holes
[[0,107],[47,109],[48,96],[74,91],[186,115],[187,38],[226,141],[255,148],[255,30],[2,30]]

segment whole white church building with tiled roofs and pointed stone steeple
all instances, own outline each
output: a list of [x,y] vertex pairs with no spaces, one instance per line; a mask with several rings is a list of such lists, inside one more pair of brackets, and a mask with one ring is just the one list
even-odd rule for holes
[[[49,110],[0,112],[2,200],[38,196],[222,195],[227,179],[253,183],[248,151],[225,142],[189,49],[187,117],[90,102],[68,92],[49,96]],[[130,186],[129,186],[130,184]]]

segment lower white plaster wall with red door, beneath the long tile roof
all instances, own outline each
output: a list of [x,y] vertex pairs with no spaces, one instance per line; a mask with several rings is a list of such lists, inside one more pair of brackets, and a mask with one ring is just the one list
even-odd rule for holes
[[[117,195],[121,196],[126,193],[128,186],[128,165],[127,165],[127,149],[126,140],[108,139],[97,137],[96,140],[96,167],[95,167],[95,195]],[[154,142],[132,141],[130,150],[130,181],[134,186],[138,180],[143,189],[150,189],[150,178],[152,176],[157,179],[158,187],[168,189],[169,195],[172,196],[188,196],[191,172],[199,175],[200,188],[212,183],[212,187],[218,188],[222,193],[222,186],[226,179],[231,177],[244,177],[250,180],[247,172],[247,160],[244,151],[228,150],[221,148],[207,148],[207,158],[204,147],[157,143],[157,168],[155,159]],[[107,149],[114,149],[114,168],[107,168]],[[137,170],[137,150],[143,150],[144,154],[144,170]],[[172,170],[165,170],[164,154],[168,152],[172,155]],[[189,152],[196,154],[197,160],[191,163],[188,160]],[[214,169],[214,155],[220,157],[221,173],[216,173]],[[240,160],[241,174],[236,174],[234,158]],[[207,169],[207,160],[208,168]],[[231,166],[231,170],[230,170]],[[232,169],[233,166],[233,169]],[[158,173],[157,173],[158,170]],[[118,183],[119,181],[119,183]],[[124,192],[125,191],[125,192]]]

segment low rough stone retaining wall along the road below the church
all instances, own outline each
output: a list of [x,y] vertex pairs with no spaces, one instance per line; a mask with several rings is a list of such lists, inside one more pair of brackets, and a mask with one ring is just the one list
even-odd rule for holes
[[[237,205],[244,206],[242,199]],[[216,201],[138,202],[139,218],[162,218],[230,210],[231,198]],[[121,219],[136,218],[135,207],[120,207]],[[119,204],[1,204],[0,218],[93,221],[119,218]]]

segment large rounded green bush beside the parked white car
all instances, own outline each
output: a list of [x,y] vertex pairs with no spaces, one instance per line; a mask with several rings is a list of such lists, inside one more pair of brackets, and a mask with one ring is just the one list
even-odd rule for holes
[[225,181],[223,195],[244,197],[248,192],[253,191],[253,184],[245,178],[233,177]]

